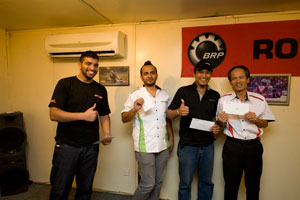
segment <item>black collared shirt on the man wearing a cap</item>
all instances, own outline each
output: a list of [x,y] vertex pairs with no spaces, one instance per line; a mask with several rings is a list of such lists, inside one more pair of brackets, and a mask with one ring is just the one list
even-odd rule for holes
[[219,98],[220,94],[217,91],[208,89],[200,101],[196,83],[181,87],[177,90],[169,109],[178,109],[181,105],[181,99],[183,99],[185,105],[189,107],[189,114],[187,116],[181,116],[180,118],[179,144],[181,146],[207,146],[214,142],[215,139],[212,132],[189,127],[192,118],[213,121],[216,117]]

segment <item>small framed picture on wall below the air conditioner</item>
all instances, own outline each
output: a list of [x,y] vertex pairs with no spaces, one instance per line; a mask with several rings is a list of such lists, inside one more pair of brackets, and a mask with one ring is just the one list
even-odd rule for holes
[[129,66],[99,67],[99,82],[105,86],[128,86]]

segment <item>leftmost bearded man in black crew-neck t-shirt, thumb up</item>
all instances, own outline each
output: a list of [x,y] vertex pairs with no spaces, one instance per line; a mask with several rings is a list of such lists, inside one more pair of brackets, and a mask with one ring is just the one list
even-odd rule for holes
[[50,200],[68,199],[76,175],[75,199],[90,199],[99,153],[99,122],[104,145],[110,144],[107,91],[93,78],[99,57],[92,51],[80,57],[79,74],[61,79],[54,90],[50,119],[58,122],[50,175]]

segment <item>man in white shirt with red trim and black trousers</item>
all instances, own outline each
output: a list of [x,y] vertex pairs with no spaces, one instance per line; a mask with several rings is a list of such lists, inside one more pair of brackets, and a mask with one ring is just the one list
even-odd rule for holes
[[[265,98],[247,91],[250,72],[245,66],[235,66],[228,72],[233,92],[225,94],[218,102],[218,123],[224,127],[227,140],[223,147],[223,175],[225,200],[236,200],[243,172],[247,200],[258,200],[262,174],[263,146],[259,137],[268,122],[275,117]],[[224,104],[237,103],[249,106],[244,115],[229,114]]]

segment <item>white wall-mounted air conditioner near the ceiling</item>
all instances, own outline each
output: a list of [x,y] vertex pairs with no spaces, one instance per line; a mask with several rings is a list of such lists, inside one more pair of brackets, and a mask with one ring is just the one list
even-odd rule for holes
[[50,57],[79,57],[91,50],[99,56],[124,57],[125,34],[120,31],[48,35],[45,48]]

